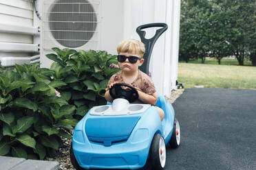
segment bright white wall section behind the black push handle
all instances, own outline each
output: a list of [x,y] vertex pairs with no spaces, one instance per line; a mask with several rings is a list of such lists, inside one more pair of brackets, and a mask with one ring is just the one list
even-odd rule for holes
[[[167,23],[169,28],[156,41],[151,54],[149,71],[158,94],[171,97],[178,77],[178,45],[180,25],[180,1],[169,0],[125,0],[124,36],[136,38],[136,27],[147,23]],[[146,29],[146,38],[156,32]]]

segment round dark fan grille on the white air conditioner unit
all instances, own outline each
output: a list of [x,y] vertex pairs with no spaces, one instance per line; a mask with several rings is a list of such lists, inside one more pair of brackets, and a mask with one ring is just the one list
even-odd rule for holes
[[97,12],[87,0],[55,1],[48,16],[52,36],[64,47],[81,47],[96,32]]

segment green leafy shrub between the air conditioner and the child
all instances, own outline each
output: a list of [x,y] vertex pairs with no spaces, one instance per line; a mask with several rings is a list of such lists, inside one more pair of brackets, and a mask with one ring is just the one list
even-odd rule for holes
[[47,54],[54,60],[51,70],[54,80],[65,82],[58,90],[69,104],[76,106],[74,118],[81,119],[89,108],[106,104],[104,95],[109,78],[118,72],[112,68],[118,64],[116,56],[106,51],[75,51],[53,48],[56,53]]

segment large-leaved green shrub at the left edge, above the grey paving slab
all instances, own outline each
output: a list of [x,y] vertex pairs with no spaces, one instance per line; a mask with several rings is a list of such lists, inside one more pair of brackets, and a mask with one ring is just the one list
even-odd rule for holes
[[71,138],[76,108],[56,97],[65,82],[39,64],[0,69],[0,156],[43,159]]

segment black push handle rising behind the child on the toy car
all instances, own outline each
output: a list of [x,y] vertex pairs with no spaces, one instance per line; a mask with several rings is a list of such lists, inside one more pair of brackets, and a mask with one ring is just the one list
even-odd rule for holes
[[[150,28],[150,27],[161,27],[160,29],[156,30],[156,34],[150,38],[145,38],[146,32],[142,31],[142,29]],[[156,43],[156,40],[161,36],[162,33],[164,33],[167,30],[168,26],[166,23],[149,23],[145,25],[140,25],[137,27],[136,32],[140,36],[141,42],[145,44],[145,54],[143,56],[144,58],[144,64],[140,66],[140,71],[149,74],[149,62],[151,57],[151,52],[153,50],[153,46]]]

